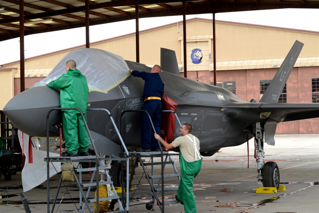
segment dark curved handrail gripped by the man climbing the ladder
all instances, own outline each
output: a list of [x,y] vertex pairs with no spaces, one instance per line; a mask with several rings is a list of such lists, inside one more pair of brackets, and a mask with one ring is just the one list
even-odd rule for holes
[[[145,112],[145,113],[148,115],[148,118],[150,119],[150,122],[151,122],[151,125],[152,125],[152,128],[153,128],[154,133],[156,133],[155,127],[154,127],[153,122],[152,122],[152,118],[151,118],[150,114],[149,114],[146,110],[124,110],[124,111],[122,112],[122,114],[121,114],[121,119],[120,119],[120,130],[121,130],[120,132],[121,132],[121,135],[122,135],[122,117],[123,117],[124,113],[126,113],[126,112]],[[159,140],[157,140],[157,142],[159,143],[159,150],[160,150],[160,152],[161,152],[161,171],[162,171],[162,189],[163,189],[163,188],[164,188],[163,149],[162,149],[162,146],[161,146]],[[147,175],[146,175],[146,176],[147,176]],[[149,178],[147,177],[147,179],[149,179]],[[153,187],[151,187],[151,190],[152,190],[152,193],[155,194],[155,190],[154,190]],[[157,198],[157,196],[155,196],[155,198],[156,198],[156,201],[157,201],[158,203],[160,203],[159,200],[158,200],[158,198]],[[162,190],[162,207],[161,207],[161,205],[159,205],[159,208],[160,208],[160,210],[161,210],[162,212],[164,212],[164,190]]]

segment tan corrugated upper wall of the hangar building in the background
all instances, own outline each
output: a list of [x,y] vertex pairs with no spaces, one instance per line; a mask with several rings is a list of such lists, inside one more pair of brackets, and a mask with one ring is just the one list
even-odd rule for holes
[[[187,37],[212,35],[212,21],[208,19],[192,19],[187,21]],[[160,63],[160,48],[172,49],[176,52],[177,62],[182,63],[182,22],[140,32],[140,62],[147,65]],[[209,39],[212,44],[212,38]],[[295,40],[303,42],[304,48],[300,57],[319,56],[319,33],[288,30],[276,27],[263,27],[249,24],[216,21],[216,60],[240,61],[285,58]],[[195,40],[188,42],[196,42]],[[85,46],[77,47],[83,48]],[[125,60],[136,60],[135,34],[94,42],[91,48],[104,49],[122,56]],[[208,47],[212,58],[212,46]],[[25,61],[25,69],[53,68],[71,49],[34,57]],[[190,55],[190,54],[189,54]],[[188,57],[191,63],[191,58]],[[17,67],[19,63],[5,65]],[[200,67],[202,70],[206,69]],[[211,69],[211,68],[210,68]],[[192,68],[195,70],[195,68]]]

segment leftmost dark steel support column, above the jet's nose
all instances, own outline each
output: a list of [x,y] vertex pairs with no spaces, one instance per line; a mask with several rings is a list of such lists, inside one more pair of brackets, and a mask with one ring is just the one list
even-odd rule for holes
[[20,22],[20,92],[25,90],[24,82],[24,4],[19,0],[19,22]]

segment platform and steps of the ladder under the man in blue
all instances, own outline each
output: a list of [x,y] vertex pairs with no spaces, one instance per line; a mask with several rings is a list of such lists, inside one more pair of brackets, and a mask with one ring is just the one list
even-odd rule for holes
[[[178,201],[174,200],[174,201],[164,201],[164,192],[168,192],[168,191],[174,191],[178,189],[178,186],[173,186],[173,187],[164,187],[163,185],[161,185],[161,181],[162,179],[165,178],[165,180],[167,180],[167,178],[174,178],[177,177],[178,181],[181,181],[180,175],[175,167],[174,161],[172,159],[173,155],[178,155],[179,154],[170,154],[167,151],[163,151],[163,156],[165,156],[165,160],[162,162],[154,162],[154,160],[156,158],[160,158],[161,157],[161,153],[160,152],[130,152],[129,156],[130,157],[136,157],[137,160],[134,162],[133,164],[133,172],[131,174],[130,177],[130,184],[133,180],[133,174],[135,173],[135,169],[137,167],[138,162],[140,162],[140,165],[144,171],[143,175],[145,174],[145,178],[147,179],[150,187],[151,187],[151,191],[152,191],[152,200],[151,202],[146,204],[146,209],[148,210],[154,210],[154,204],[155,201],[157,203],[157,205],[159,206],[160,210],[162,212],[164,212],[164,205],[168,205],[168,204],[174,204],[174,203],[179,203]],[[149,161],[147,163],[143,162],[142,158],[150,158]],[[161,174],[160,175],[154,175],[154,170],[155,167],[157,165],[161,165],[163,164],[163,170],[161,170]],[[164,173],[164,169],[165,166],[167,164],[171,164],[173,166],[174,169],[174,173],[170,173],[170,174],[165,174]],[[148,167],[151,166],[151,170],[148,169]],[[142,175],[142,176],[143,176]],[[154,181],[158,179],[158,183],[154,184]],[[170,179],[172,180],[172,179]],[[159,194],[161,193],[161,194]],[[162,199],[159,200],[159,196],[162,195]]]

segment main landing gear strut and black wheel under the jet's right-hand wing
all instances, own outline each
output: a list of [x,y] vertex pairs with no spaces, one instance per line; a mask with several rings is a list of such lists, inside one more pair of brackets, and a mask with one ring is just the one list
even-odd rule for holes
[[258,171],[258,180],[264,187],[279,187],[279,168],[275,162],[264,162],[263,139],[265,123],[258,122],[254,128],[256,141],[256,162]]

